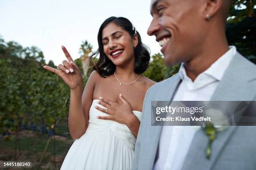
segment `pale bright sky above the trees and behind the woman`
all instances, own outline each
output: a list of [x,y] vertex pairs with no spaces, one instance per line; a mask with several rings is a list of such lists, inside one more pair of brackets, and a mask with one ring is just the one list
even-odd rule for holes
[[147,35],[151,22],[150,0],[0,0],[0,35],[23,47],[36,46],[44,52],[46,63],[66,60],[61,45],[73,59],[83,40],[97,49],[97,32],[110,16],[131,20],[151,55],[160,52],[155,37]]

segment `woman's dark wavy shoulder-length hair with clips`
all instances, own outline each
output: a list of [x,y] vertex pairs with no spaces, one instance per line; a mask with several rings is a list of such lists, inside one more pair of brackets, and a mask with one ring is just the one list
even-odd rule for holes
[[[92,68],[96,70],[102,77],[112,75],[115,72],[115,64],[105,55],[103,50],[103,43],[102,43],[102,30],[109,23],[115,23],[115,25],[122,27],[131,35],[132,38],[135,35],[135,28],[133,30],[133,25],[131,21],[129,21],[127,18],[110,17],[102,23],[98,32],[98,37],[97,37],[99,48],[97,49],[97,51],[93,52],[92,55],[90,56],[90,60],[92,61],[93,56],[96,57],[97,55],[100,54],[99,60]],[[136,72],[137,74],[141,74],[144,71],[146,71],[146,69],[148,68],[148,63],[150,60],[150,50],[146,45],[144,45],[141,42],[141,35],[139,34],[138,31],[136,31],[136,34],[138,36],[138,45],[134,49],[134,54],[135,54],[134,72]]]

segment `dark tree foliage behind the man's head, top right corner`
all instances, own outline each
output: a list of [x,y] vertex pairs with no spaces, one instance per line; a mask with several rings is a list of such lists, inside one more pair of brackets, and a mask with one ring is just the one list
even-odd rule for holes
[[228,43],[256,63],[256,0],[232,0],[226,25]]

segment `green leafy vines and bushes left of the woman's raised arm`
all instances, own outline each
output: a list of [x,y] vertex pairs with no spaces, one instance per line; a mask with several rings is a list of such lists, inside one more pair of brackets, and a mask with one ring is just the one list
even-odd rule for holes
[[43,65],[44,55],[37,47],[23,48],[0,38],[0,133],[6,140],[15,133],[15,159],[22,128],[37,125],[34,130],[44,126],[51,132],[68,115],[69,87]]

